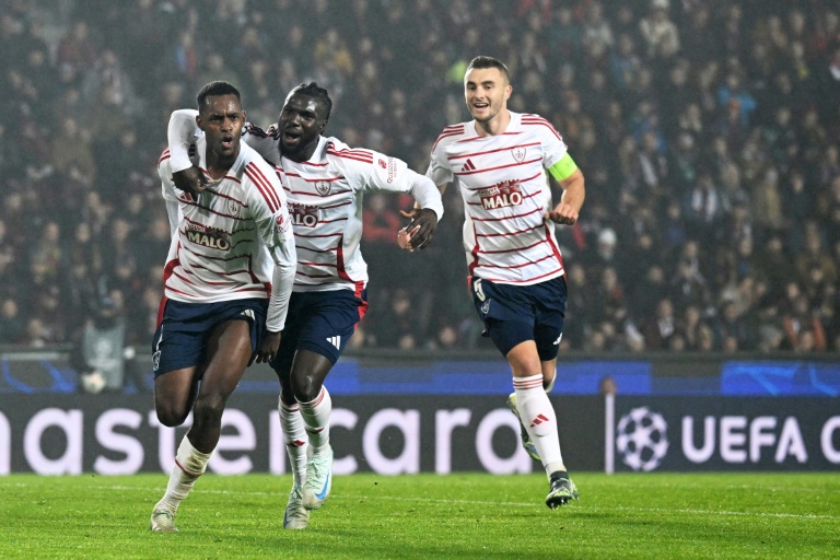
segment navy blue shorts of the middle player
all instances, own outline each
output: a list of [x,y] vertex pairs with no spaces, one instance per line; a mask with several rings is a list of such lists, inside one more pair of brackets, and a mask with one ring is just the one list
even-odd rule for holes
[[291,372],[298,350],[310,350],[335,364],[366,311],[368,290],[359,295],[350,290],[292,292],[280,349],[271,368]]

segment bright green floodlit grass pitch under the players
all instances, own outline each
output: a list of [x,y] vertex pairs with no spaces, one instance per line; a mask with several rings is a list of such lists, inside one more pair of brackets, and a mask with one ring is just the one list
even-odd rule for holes
[[550,511],[539,475],[336,478],[283,530],[291,477],[203,476],[180,533],[149,532],[164,475],[0,477],[0,558],[840,558],[837,474],[581,472]]

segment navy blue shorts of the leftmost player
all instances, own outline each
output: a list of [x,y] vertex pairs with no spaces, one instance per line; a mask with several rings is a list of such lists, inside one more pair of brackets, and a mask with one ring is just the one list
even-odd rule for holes
[[166,300],[163,320],[152,340],[154,376],[192,368],[205,361],[207,342],[220,323],[247,320],[250,351],[256,354],[266,331],[268,300],[247,299],[218,303],[184,303]]

